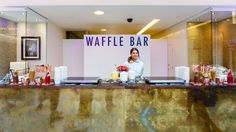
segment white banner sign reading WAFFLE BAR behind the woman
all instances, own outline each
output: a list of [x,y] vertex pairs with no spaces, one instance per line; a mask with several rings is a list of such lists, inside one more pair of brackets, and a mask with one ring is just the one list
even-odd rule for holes
[[127,61],[133,47],[144,62],[144,75],[150,75],[149,35],[85,35],[84,76],[110,78],[115,66]]

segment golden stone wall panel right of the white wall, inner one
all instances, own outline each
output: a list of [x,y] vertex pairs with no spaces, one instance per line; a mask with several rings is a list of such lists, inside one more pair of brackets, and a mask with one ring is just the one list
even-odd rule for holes
[[212,64],[211,23],[188,23],[189,65]]

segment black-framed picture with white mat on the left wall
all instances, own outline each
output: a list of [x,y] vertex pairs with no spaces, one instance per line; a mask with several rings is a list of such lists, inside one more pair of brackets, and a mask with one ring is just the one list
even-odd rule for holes
[[21,37],[21,59],[40,60],[40,37]]

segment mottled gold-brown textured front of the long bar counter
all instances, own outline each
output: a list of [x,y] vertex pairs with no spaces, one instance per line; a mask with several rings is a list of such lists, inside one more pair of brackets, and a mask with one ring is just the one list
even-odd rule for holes
[[236,130],[236,86],[0,86],[0,132]]

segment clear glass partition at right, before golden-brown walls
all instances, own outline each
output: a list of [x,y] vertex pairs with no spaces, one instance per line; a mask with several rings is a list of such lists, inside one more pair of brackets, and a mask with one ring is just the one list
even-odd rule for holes
[[214,64],[236,72],[235,11],[209,11],[190,19],[187,27],[189,66]]

